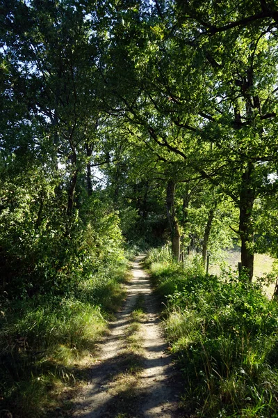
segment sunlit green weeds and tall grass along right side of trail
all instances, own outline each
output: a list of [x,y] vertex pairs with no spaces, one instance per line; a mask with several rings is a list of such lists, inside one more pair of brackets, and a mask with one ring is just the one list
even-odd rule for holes
[[165,333],[184,376],[188,417],[278,417],[278,308],[236,274],[184,268],[167,248],[145,261],[166,304]]

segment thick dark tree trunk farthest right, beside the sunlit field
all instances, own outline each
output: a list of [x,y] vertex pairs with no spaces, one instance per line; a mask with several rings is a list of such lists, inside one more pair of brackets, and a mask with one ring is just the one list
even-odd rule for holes
[[254,206],[255,193],[252,187],[252,173],[254,167],[252,163],[248,164],[247,169],[242,175],[240,189],[240,221],[239,235],[241,240],[241,263],[242,267],[252,281],[254,272],[254,226],[252,222],[252,210]]

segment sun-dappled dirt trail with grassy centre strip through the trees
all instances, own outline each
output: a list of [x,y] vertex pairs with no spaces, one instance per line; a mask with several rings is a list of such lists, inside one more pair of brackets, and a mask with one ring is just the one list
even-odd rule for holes
[[[156,297],[147,274],[140,267],[142,258],[138,256],[133,262],[126,302],[111,323],[111,332],[101,345],[97,363],[92,366],[91,382],[76,400],[73,417],[181,416],[179,379],[161,333]],[[138,301],[144,314],[137,327],[132,318]]]

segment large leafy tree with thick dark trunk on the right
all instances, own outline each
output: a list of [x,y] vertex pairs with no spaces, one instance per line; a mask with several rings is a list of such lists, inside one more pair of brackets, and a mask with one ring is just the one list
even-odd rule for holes
[[[171,5],[161,5],[149,21],[151,42],[139,51],[142,63],[133,79],[142,90],[137,100],[123,98],[122,104],[154,148],[183,159],[185,169],[234,200],[242,263],[252,279],[254,199],[270,191],[268,173],[277,159],[276,12],[262,3],[250,10],[231,1],[213,4],[207,17],[204,2],[188,4],[176,22]],[[254,15],[245,17],[250,11]]]

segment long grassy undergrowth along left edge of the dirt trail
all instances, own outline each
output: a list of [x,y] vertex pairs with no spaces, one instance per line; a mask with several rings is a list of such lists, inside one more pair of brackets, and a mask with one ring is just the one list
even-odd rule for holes
[[1,298],[0,411],[14,418],[56,416],[61,394],[83,380],[82,361],[92,357],[109,316],[122,304],[125,272],[122,261],[64,295]]

